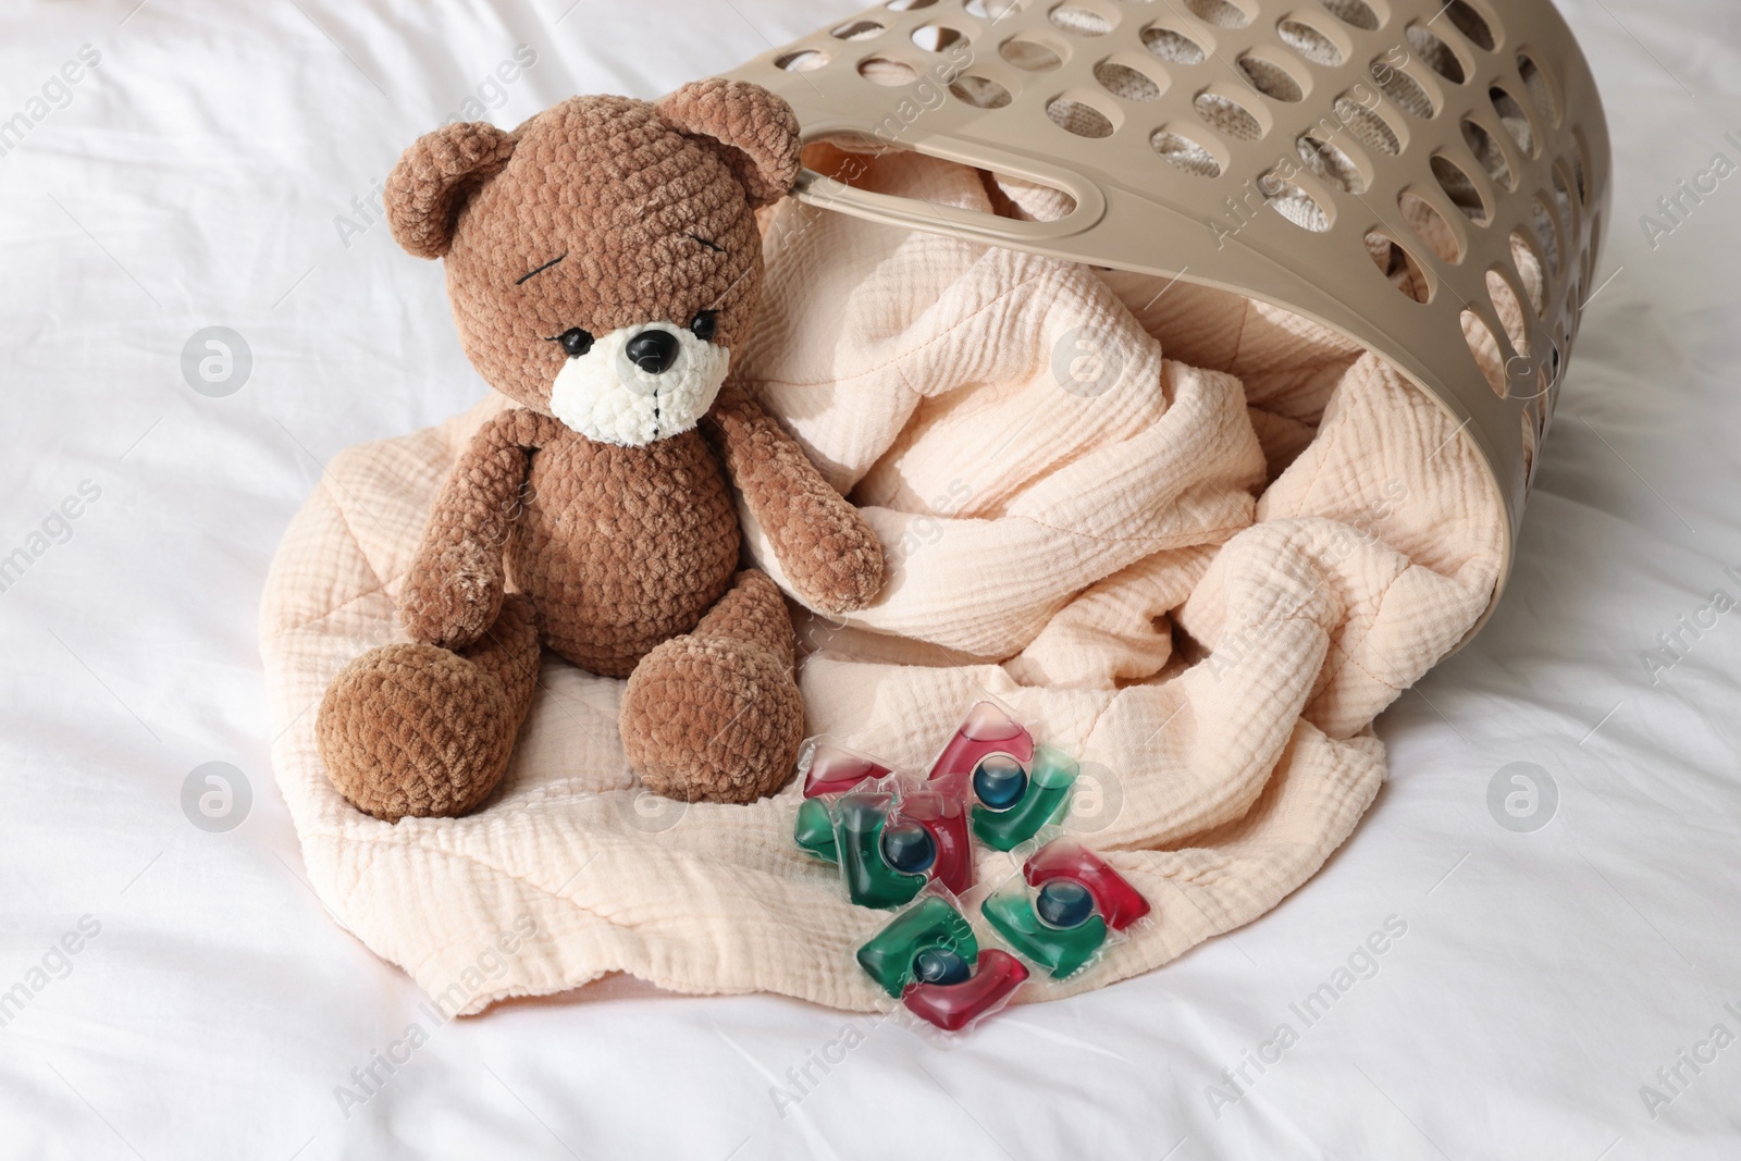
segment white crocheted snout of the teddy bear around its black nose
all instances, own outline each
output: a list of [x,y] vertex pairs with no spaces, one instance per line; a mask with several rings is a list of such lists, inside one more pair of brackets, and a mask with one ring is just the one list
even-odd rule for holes
[[[677,339],[677,359],[662,372],[629,359],[629,343],[648,331]],[[587,439],[644,447],[693,428],[726,381],[731,352],[674,322],[620,327],[562,364],[550,388],[550,414]]]

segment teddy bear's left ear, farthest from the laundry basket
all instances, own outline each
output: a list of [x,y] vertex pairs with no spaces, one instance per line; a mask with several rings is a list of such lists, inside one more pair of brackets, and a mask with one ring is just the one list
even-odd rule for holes
[[465,200],[501,172],[514,141],[489,122],[458,122],[418,138],[387,178],[393,238],[418,258],[446,254]]

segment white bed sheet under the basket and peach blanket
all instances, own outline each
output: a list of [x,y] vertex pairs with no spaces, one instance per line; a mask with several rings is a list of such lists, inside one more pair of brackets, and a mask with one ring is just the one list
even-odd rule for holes
[[[606,982],[442,1025],[345,1107],[352,1069],[430,1020],[301,879],[256,602],[327,456],[481,393],[439,266],[352,198],[493,101],[517,45],[536,63],[487,110],[508,125],[576,91],[656,96],[858,0],[134,2],[0,12],[0,118],[101,54],[0,157],[0,555],[49,538],[0,592],[0,992],[30,992],[0,1027],[0,1156],[1741,1156],[1741,614],[1666,674],[1642,661],[1741,595],[1741,179],[1654,247],[1638,225],[1741,160],[1732,0],[1567,2],[1609,101],[1614,230],[1516,576],[1381,719],[1389,785],[1276,912],[952,1051]],[[205,325],[252,352],[232,395],[183,379]],[[211,761],[252,790],[223,834],[181,806]],[[1516,761],[1558,789],[1532,834],[1487,808]],[[1290,1004],[1388,917],[1405,935],[1307,1027]],[[1281,1023],[1297,1041],[1259,1072]],[[1682,1051],[1715,1058],[1673,1091]]]

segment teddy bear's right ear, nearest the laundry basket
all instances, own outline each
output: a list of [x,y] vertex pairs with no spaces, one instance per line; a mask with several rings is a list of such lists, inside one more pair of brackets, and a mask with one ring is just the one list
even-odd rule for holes
[[655,108],[686,138],[717,148],[752,207],[778,202],[797,181],[797,115],[761,85],[710,77],[689,82]]

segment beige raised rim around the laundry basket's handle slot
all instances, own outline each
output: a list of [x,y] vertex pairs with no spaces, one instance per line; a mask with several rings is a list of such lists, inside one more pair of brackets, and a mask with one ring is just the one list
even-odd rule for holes
[[[846,125],[806,125],[804,138],[808,143],[851,132],[855,131]],[[1100,191],[1100,186],[1069,169],[1059,169],[1036,162],[1031,157],[1005,153],[1003,150],[956,138],[928,138],[914,151],[1062,190],[1076,200],[1076,207],[1055,221],[1020,221],[975,209],[961,209],[959,205],[938,205],[921,198],[858,190],[808,167],[797,174],[792,195],[808,205],[820,205],[822,209],[839,211],[853,218],[911,230],[926,230],[930,233],[947,233],[992,245],[1022,245],[1024,242],[1038,244],[1067,238],[1092,228],[1106,216],[1106,193]]]

